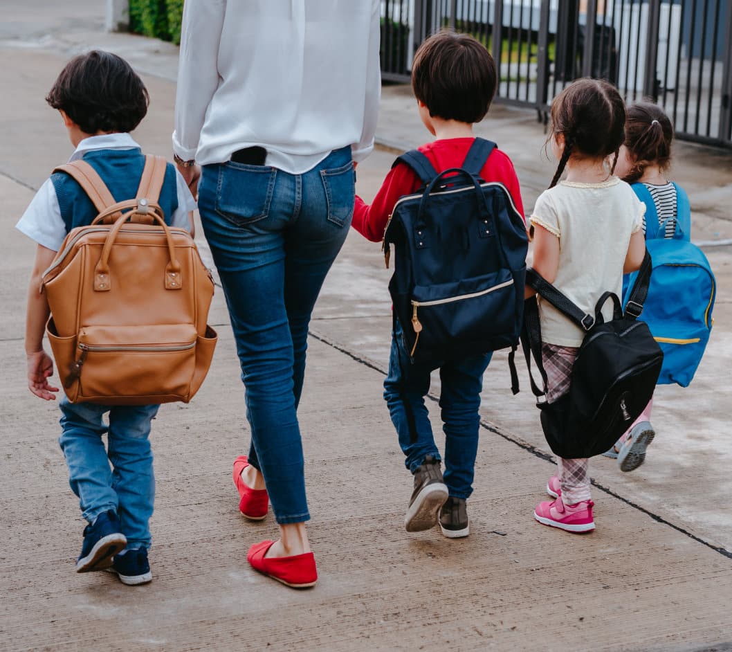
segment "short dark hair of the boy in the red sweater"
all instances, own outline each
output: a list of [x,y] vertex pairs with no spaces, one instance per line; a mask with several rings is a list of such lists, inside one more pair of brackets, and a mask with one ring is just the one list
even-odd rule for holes
[[496,62],[468,34],[439,32],[419,46],[412,63],[412,89],[430,116],[480,122],[496,95]]

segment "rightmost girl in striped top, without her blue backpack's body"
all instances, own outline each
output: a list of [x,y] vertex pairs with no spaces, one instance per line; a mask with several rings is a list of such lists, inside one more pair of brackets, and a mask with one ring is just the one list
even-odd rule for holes
[[[677,224],[683,239],[690,239],[689,199],[682,188],[665,176],[671,166],[672,140],[671,120],[660,106],[641,102],[627,108],[625,143],[620,148],[616,173],[632,184],[638,199],[646,204],[646,240],[673,238]],[[652,403],[651,400],[616,445],[604,453],[618,459],[621,471],[637,469],[646,459],[646,448],[656,435],[650,421]]]

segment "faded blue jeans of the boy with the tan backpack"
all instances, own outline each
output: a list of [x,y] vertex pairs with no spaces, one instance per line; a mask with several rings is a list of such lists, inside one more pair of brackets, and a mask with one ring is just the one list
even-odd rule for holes
[[[82,516],[91,523],[113,509],[122,522],[127,547],[149,548],[155,477],[148,436],[160,406],[72,404],[63,396],[59,407],[59,444]],[[109,412],[108,424],[102,419],[105,412]],[[108,450],[102,441],[105,433]]]

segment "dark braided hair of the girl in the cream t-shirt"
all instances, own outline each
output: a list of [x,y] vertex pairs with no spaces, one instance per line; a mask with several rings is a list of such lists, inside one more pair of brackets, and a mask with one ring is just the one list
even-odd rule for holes
[[559,181],[572,154],[605,158],[618,152],[625,140],[625,104],[618,89],[601,79],[582,78],[569,84],[551,105],[549,138],[564,136],[564,152],[549,188]]

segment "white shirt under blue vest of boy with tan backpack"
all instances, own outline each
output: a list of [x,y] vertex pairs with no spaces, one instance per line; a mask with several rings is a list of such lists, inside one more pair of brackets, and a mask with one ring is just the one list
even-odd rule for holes
[[[108,133],[103,136],[90,136],[84,138],[78,144],[69,159],[69,163],[72,160],[82,158],[86,152],[91,152],[94,149],[138,149],[139,147],[129,133]],[[177,170],[176,190],[178,193],[178,208],[171,216],[171,226],[190,229],[188,213],[195,210],[195,199],[193,199],[193,195],[191,195],[183,177]],[[53,188],[51,179],[46,179],[39,188],[15,228],[39,245],[53,251],[59,251],[67,231],[64,218],[61,217],[59,198],[56,197],[56,189]]]

